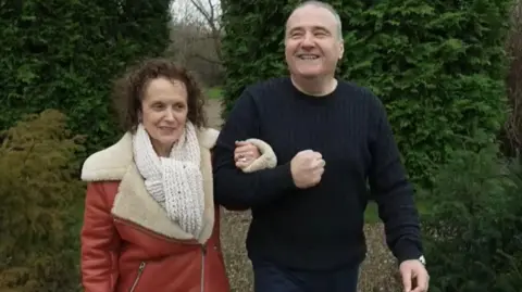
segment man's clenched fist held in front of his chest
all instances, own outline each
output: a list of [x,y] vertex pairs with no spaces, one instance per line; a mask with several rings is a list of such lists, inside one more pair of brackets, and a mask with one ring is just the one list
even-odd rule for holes
[[294,156],[290,162],[291,177],[299,189],[314,187],[321,181],[325,162],[321,153],[303,150]]

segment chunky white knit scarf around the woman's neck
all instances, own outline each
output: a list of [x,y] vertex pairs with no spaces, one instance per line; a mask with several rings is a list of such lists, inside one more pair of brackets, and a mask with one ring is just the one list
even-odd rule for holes
[[160,157],[140,124],[133,136],[134,158],[150,195],[169,218],[185,232],[198,238],[202,229],[204,198],[196,129],[187,122],[170,157]]

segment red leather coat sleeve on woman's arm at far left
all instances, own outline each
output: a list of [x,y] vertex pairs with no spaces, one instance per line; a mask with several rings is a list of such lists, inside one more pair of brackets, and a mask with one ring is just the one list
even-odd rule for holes
[[117,281],[116,232],[103,182],[89,182],[82,228],[82,284],[85,292],[113,292]]

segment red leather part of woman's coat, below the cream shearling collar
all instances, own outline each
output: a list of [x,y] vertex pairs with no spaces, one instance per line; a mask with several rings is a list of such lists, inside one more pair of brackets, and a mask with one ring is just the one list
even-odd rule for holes
[[111,214],[120,182],[90,182],[82,230],[85,292],[228,292],[219,207],[204,243],[165,237]]

